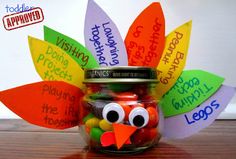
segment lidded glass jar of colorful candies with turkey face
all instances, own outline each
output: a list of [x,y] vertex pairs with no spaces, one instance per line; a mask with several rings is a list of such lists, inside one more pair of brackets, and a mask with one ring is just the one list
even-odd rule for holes
[[85,70],[80,133],[90,148],[106,153],[137,153],[160,139],[156,71],[149,67]]

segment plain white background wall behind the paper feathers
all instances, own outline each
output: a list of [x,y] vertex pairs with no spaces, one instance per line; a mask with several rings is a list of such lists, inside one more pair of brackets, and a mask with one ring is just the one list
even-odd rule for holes
[[[125,38],[136,16],[154,0],[95,0],[117,24]],[[193,20],[189,55],[185,69],[203,69],[225,77],[224,84],[236,86],[236,1],[163,0],[166,34]],[[87,0],[1,0],[0,17],[10,14],[6,5],[42,8],[43,22],[6,31],[0,23],[0,90],[41,81],[30,56],[27,36],[43,39],[47,25],[84,44]],[[18,118],[0,102],[0,118]],[[221,118],[236,118],[236,97]]]

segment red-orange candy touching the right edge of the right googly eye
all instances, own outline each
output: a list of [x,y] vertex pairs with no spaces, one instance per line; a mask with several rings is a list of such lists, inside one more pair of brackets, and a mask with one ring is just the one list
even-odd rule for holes
[[148,121],[147,127],[149,128],[156,127],[159,121],[157,109],[153,107],[148,107],[146,108],[146,110],[148,111],[148,114],[149,114],[149,121]]

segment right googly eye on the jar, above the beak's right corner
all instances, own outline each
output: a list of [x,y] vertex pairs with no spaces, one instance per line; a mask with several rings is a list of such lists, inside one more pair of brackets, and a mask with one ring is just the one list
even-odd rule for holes
[[134,108],[129,114],[129,122],[132,126],[142,128],[147,125],[149,120],[148,111],[142,107]]

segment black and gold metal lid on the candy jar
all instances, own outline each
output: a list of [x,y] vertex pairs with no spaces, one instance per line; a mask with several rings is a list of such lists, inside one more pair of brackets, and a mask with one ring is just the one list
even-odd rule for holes
[[157,83],[154,68],[140,66],[99,67],[85,69],[84,83]]

